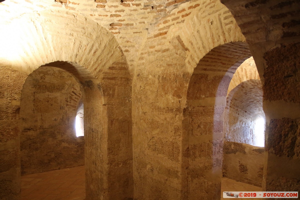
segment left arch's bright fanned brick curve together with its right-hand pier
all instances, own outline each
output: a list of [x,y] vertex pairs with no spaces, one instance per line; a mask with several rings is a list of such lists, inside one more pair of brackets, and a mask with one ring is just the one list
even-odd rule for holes
[[[59,20],[61,17],[66,20]],[[101,169],[95,167],[98,161],[85,163],[87,197],[132,198],[131,77],[114,36],[84,16],[58,10],[24,14],[4,28],[7,33],[12,33],[15,25],[19,25],[19,30],[13,37],[6,38],[3,48],[7,52],[1,54],[1,65],[22,74],[30,74],[43,65],[59,67],[73,74],[82,84],[85,118],[89,119],[85,127],[90,132],[87,135],[91,136],[85,149],[97,154],[94,161],[103,163]],[[13,48],[6,46],[9,43]],[[92,110],[88,105],[99,109]],[[94,115],[101,116],[101,124],[96,122]],[[97,123],[97,128],[90,125]],[[103,141],[101,147],[97,138]],[[19,154],[17,148],[16,153]],[[17,160],[13,162],[13,169],[20,166]],[[97,179],[92,178],[95,174]],[[8,189],[4,193],[19,196],[19,177],[16,173],[12,180],[17,185],[16,190]],[[99,179],[102,179],[101,185],[96,181]]]

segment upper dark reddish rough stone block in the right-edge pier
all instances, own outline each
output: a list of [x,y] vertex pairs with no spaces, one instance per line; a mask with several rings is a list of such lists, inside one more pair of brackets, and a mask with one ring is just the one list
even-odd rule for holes
[[[264,95],[264,100],[300,103],[300,91],[295,91],[295,88],[300,88],[299,48],[300,43],[287,44],[265,52],[266,64],[272,67],[266,68],[264,72],[264,90],[268,91]],[[282,66],[285,66],[285,70],[282,70]]]

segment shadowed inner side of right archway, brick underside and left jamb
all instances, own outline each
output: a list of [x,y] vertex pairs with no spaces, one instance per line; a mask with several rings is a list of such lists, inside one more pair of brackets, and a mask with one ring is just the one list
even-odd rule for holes
[[226,43],[208,52],[194,69],[183,121],[187,199],[220,199],[226,93],[235,70],[250,56],[246,43]]

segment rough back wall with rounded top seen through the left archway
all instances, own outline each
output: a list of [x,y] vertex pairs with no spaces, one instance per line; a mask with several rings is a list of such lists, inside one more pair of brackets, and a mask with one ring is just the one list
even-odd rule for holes
[[66,71],[41,67],[26,79],[21,96],[21,172],[32,174],[84,165],[84,137],[75,118],[82,94]]

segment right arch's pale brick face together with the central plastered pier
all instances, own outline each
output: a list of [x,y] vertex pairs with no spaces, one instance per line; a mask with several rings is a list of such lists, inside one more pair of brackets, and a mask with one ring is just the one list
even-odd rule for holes
[[[205,11],[206,5],[215,5],[209,11],[213,12],[212,14],[208,15],[209,12]],[[201,190],[199,188],[202,188],[202,184],[199,184],[197,188],[188,186],[187,173],[192,173],[192,171],[185,170],[189,167],[186,162],[189,159],[186,158],[189,156],[186,151],[189,124],[186,115],[183,115],[188,85],[197,64],[211,49],[224,43],[245,42],[245,38],[230,11],[219,1],[201,1],[201,6],[185,17],[184,22],[176,24],[172,21],[173,18],[178,17],[180,10],[186,9],[190,12],[188,6],[188,3],[182,4],[179,10],[174,9],[175,15],[166,18],[175,25],[168,27],[168,22],[166,29],[151,32],[152,35],[147,38],[137,62],[138,67],[133,81],[133,98],[137,102],[133,105],[133,111],[136,113],[133,128],[137,133],[149,133],[134,135],[135,154],[138,155],[134,159],[136,163],[134,170],[139,172],[134,174],[134,195],[137,199],[142,199],[143,196],[153,196],[153,191],[157,198],[163,196],[166,199],[187,199],[189,193],[190,199],[211,199],[201,196],[200,192],[190,192]],[[204,18],[200,14],[203,12],[206,13]],[[179,13],[179,16],[181,17],[182,14]],[[212,24],[211,19],[213,19]],[[159,26],[159,28],[163,27]],[[212,39],[212,34],[219,37]],[[210,112],[214,115],[213,109]],[[159,120],[161,113],[170,116],[167,121],[172,126]],[[180,117],[183,115],[184,119],[174,117],[174,115]],[[140,123],[140,121],[145,123]],[[182,135],[178,136],[178,132]],[[159,157],[153,157],[153,154],[159,154]],[[153,166],[153,174],[147,172],[149,169],[144,167],[144,163],[151,163],[149,169]],[[162,171],[161,167],[170,170],[172,178],[170,178],[171,173]],[[198,176],[197,170],[193,171],[194,176]],[[199,169],[198,172],[201,170]],[[148,176],[139,175],[144,173]]]

